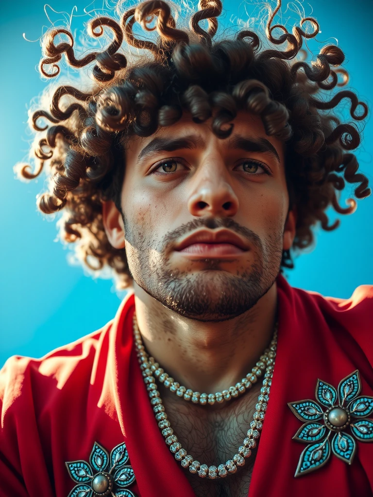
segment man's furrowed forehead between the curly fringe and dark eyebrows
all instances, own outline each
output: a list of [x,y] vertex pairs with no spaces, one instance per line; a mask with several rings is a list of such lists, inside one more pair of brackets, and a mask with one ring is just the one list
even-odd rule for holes
[[[191,115],[187,112],[183,113],[183,116],[179,121],[172,126],[165,126],[159,128],[155,133],[148,137],[139,137],[137,135],[127,136],[124,142],[124,148],[127,157],[137,159],[141,157],[143,149],[152,142],[155,138],[162,139],[175,139],[183,138],[186,136],[197,137],[196,146],[197,148],[206,148],[208,145],[212,145],[214,148],[221,150],[229,150],[229,144],[232,143],[232,139],[237,136],[252,137],[265,139],[270,142],[271,145],[276,149],[280,158],[283,158],[284,144],[279,139],[274,136],[269,136],[266,134],[262,119],[260,116],[251,114],[245,111],[239,111],[235,119],[231,121],[234,124],[233,130],[228,138],[218,138],[211,129],[212,118],[206,120],[204,123],[193,122]],[[223,129],[228,129],[227,124]],[[212,142],[212,143],[211,143]]]

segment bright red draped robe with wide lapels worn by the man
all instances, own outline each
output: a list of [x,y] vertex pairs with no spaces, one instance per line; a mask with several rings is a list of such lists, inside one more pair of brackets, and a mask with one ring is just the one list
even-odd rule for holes
[[[373,395],[373,287],[349,300],[291,288],[278,278],[276,366],[249,497],[372,496],[373,443],[357,442],[352,466],[335,456],[294,478],[305,444],[288,402],[314,399],[317,378],[335,387],[359,369]],[[192,497],[185,470],[166,446],[133,348],[134,297],[115,319],[42,359],[10,358],[0,373],[0,496],[67,497],[65,461],[89,460],[94,441],[107,451],[125,441],[138,497]],[[231,477],[231,478],[234,478]]]

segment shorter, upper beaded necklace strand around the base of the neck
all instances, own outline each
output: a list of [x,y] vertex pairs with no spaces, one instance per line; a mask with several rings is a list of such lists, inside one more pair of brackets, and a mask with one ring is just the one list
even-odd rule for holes
[[[201,394],[200,392],[193,392],[193,390],[187,389],[183,385],[180,385],[177,381],[174,380],[174,378],[169,376],[164,371],[164,369],[160,367],[158,362],[155,361],[154,357],[148,356],[141,339],[141,334],[137,325],[136,314],[133,315],[133,328],[134,328],[135,339],[140,340],[139,345],[141,345],[141,347],[138,350],[141,351],[142,356],[147,359],[148,369],[151,370],[155,378],[158,378],[158,381],[160,383],[163,383],[166,388],[169,388],[170,391],[175,393],[178,397],[184,399],[187,402],[191,401],[193,404],[199,404],[201,406],[205,406],[206,404],[212,406],[215,404],[215,402],[218,404],[221,404],[222,402],[228,402],[231,399],[235,399],[239,395],[245,393],[246,390],[250,390],[251,387],[254,385],[254,383],[258,381],[258,378],[260,378],[263,375],[267,366],[272,365],[275,359],[275,352],[271,348],[275,344],[275,335],[274,335],[274,338],[272,339],[270,346],[266,348],[266,350],[260,356],[259,361],[252,368],[251,372],[245,376],[245,378],[242,378],[242,380],[236,383],[236,385],[231,386],[227,390],[223,390],[222,392],[216,392],[214,394],[213,393]],[[276,330],[277,330],[277,324],[275,327],[275,331]]]

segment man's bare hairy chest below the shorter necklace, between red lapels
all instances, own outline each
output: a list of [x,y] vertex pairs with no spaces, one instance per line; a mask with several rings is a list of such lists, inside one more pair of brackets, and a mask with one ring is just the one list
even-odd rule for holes
[[[259,381],[242,397],[216,406],[187,403],[164,387],[160,393],[171,426],[183,448],[201,464],[218,466],[233,458],[247,436],[261,386]],[[210,480],[186,469],[183,471],[198,497],[247,497],[256,452],[257,448],[253,449],[245,460],[245,466],[226,478]]]

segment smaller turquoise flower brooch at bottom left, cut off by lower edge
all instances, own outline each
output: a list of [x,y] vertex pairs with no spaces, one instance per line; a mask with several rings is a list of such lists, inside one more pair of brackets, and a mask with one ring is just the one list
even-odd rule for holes
[[90,464],[86,461],[65,463],[71,478],[78,483],[68,497],[136,497],[127,487],[135,481],[131,466],[126,466],[128,452],[124,443],[109,454],[94,442]]

